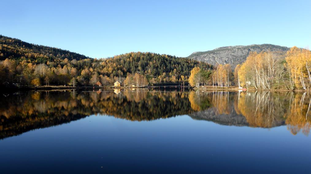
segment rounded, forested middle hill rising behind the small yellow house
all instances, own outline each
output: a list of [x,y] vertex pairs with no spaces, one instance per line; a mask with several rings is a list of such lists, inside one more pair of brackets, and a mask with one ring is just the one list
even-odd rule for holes
[[[131,52],[108,59],[100,59],[99,62],[105,72],[112,72],[114,76],[139,73],[145,74],[149,78],[160,78],[160,81],[172,76],[179,81],[182,75],[189,76],[194,67],[212,68],[211,65],[204,62],[151,52]],[[166,79],[165,81],[175,80]]]

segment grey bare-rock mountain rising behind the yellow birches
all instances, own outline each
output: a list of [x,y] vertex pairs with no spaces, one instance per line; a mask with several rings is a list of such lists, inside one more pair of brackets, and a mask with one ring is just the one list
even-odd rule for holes
[[236,65],[243,63],[250,52],[261,51],[288,51],[288,47],[282,47],[272,44],[248,45],[248,46],[229,46],[219,47],[211,51],[194,52],[187,58],[207,62],[211,65],[231,64],[234,68]]

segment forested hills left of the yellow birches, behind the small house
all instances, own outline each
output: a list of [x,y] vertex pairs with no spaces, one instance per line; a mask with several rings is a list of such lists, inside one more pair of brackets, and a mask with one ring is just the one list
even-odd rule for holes
[[0,41],[0,86],[7,87],[73,83],[76,86],[109,86],[116,80],[127,85],[144,86],[188,81],[194,67],[212,69],[204,62],[151,52],[92,59],[5,36],[1,36]]

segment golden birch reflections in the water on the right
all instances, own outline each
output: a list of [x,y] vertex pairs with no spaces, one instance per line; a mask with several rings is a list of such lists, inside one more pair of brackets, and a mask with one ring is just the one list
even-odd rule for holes
[[[271,128],[286,124],[292,134],[302,130],[304,135],[310,132],[311,122],[311,94],[309,92],[271,92],[271,91],[210,91],[202,92],[207,100],[211,101],[214,112],[205,112],[205,118],[221,115],[222,117],[238,115],[246,118],[247,123],[241,124],[249,127]],[[191,96],[191,95],[190,95]],[[190,100],[190,97],[189,97]],[[199,108],[200,102],[192,101],[191,106]],[[195,109],[200,111],[199,109]],[[203,117],[201,114],[201,117]],[[218,118],[220,119],[220,118]],[[208,119],[209,120],[209,119]],[[227,120],[228,121],[228,120]],[[231,123],[237,120],[229,120]]]

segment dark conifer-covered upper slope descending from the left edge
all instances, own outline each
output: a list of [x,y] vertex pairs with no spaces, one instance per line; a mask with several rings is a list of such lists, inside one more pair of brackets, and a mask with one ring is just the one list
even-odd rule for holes
[[0,60],[5,60],[6,58],[46,63],[47,61],[56,61],[56,59],[81,60],[89,57],[55,47],[31,44],[16,38],[0,35]]

